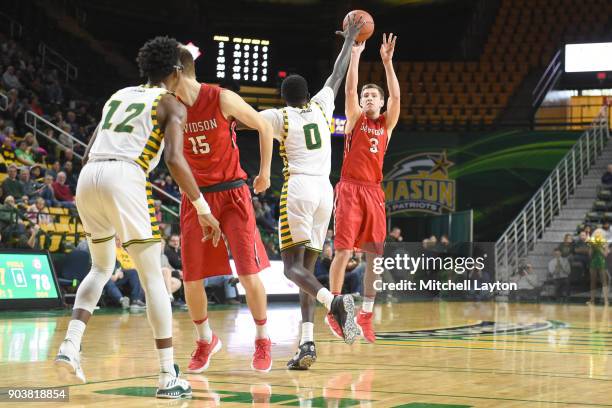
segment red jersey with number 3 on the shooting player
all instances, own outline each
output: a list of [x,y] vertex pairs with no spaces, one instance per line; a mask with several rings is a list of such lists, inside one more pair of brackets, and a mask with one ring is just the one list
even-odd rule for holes
[[341,179],[380,184],[388,141],[385,116],[369,119],[362,113],[344,138]]

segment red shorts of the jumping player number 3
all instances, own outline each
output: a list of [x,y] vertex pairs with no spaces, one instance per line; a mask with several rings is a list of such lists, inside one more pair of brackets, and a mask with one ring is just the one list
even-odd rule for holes
[[334,206],[334,247],[382,255],[387,218],[380,185],[340,180]]

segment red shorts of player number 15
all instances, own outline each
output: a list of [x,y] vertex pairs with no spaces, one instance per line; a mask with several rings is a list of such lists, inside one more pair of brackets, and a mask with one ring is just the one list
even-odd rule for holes
[[[238,275],[255,274],[269,267],[270,261],[255,224],[249,187],[245,184],[230,190],[204,193],[204,198],[219,221]],[[185,194],[181,203],[181,258],[185,281],[232,273],[223,239],[219,240],[217,247],[213,246],[212,240],[202,242],[202,228],[196,210]]]

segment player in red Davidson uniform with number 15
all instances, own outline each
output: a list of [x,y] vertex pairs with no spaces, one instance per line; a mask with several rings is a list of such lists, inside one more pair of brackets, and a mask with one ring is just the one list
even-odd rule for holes
[[[266,292],[257,273],[270,266],[255,225],[247,175],[240,167],[240,154],[234,132],[235,121],[259,131],[261,163],[253,187],[256,193],[270,187],[272,128],[257,111],[236,93],[217,86],[200,84],[195,77],[192,55],[181,48],[184,80],[176,94],[187,106],[183,153],[212,214],[219,220],[234,258],[240,283],[256,325],[255,353],[251,367],[267,372],[272,367],[270,339],[266,330]],[[189,314],[198,339],[189,363],[190,373],[208,368],[210,357],[219,351],[221,341],[211,331],[203,279],[231,274],[225,245],[214,247],[201,241],[195,209],[183,195],[181,241],[183,280]]]

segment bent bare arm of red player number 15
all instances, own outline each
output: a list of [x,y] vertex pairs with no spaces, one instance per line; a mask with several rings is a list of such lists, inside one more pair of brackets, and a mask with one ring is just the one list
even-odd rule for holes
[[226,117],[233,117],[242,126],[259,132],[259,174],[253,181],[255,193],[262,193],[270,187],[270,166],[274,136],[272,126],[238,94],[224,89],[221,92],[221,110]]

